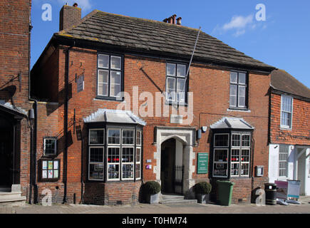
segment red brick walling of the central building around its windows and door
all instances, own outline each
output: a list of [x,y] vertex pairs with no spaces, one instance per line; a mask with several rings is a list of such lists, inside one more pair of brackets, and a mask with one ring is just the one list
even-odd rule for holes
[[[63,131],[63,101],[64,93],[60,93],[65,86],[65,66],[66,66],[66,47],[60,46],[57,53],[53,58],[58,58],[58,73],[53,74],[52,81],[58,81],[58,132]],[[53,61],[53,60],[51,60]],[[146,76],[143,71],[148,75]],[[146,58],[138,56],[125,55],[125,91],[131,96],[133,95],[133,86],[139,87],[139,93],[148,91],[154,95],[158,92],[158,88],[165,90],[165,68],[166,63],[164,59]],[[77,86],[75,83],[75,76],[81,76],[84,74],[85,89],[80,93],[77,93]],[[73,125],[68,125],[68,135],[71,139],[71,143],[68,147],[68,199],[72,199],[73,195],[80,199],[81,197],[81,175],[83,174],[83,180],[86,182],[87,167],[86,156],[87,152],[87,131],[85,125],[83,125],[83,119],[91,113],[94,113],[98,108],[115,109],[120,104],[119,101],[113,100],[100,100],[96,99],[96,76],[97,76],[97,52],[93,50],[86,50],[81,48],[72,48],[70,51],[70,68],[69,68],[69,88],[70,99],[68,101],[68,121],[72,123],[74,109],[76,110],[77,125],[81,125],[83,129],[83,173],[81,173],[81,141],[73,135]],[[49,77],[47,74],[41,77]],[[152,78],[152,81],[148,78]],[[156,86],[155,86],[155,85]],[[197,165],[196,157],[198,152],[210,152],[210,143],[212,133],[210,132],[210,125],[222,119],[225,116],[236,116],[244,118],[247,123],[254,126],[254,167],[256,165],[264,165],[264,180],[268,177],[268,103],[269,103],[269,84],[270,76],[249,73],[249,112],[232,111],[229,108],[229,70],[226,68],[219,68],[215,66],[207,66],[202,64],[192,64],[190,71],[189,91],[193,92],[194,100],[194,115],[193,121],[189,125],[178,125],[170,123],[169,117],[142,117],[147,122],[143,130],[143,164],[145,167],[145,160],[152,160],[150,165],[155,164],[154,152],[156,146],[154,142],[154,128],[155,126],[174,126],[174,127],[195,127],[200,128],[202,125],[207,125],[207,133],[202,134],[200,143],[197,147],[194,147],[195,159],[192,161],[192,165]],[[145,102],[145,99],[141,100],[126,100],[126,103],[130,102],[130,107],[133,112],[134,102],[140,104]],[[155,103],[155,100],[154,100]],[[160,105],[161,110],[163,105]],[[154,105],[154,115],[155,107]],[[169,106],[170,113],[172,113],[172,107]],[[185,112],[187,107],[185,107]],[[46,117],[42,117],[46,118]],[[55,116],[56,118],[56,116]],[[62,135],[59,135],[61,137]],[[38,138],[38,140],[41,140]],[[64,142],[58,143],[59,152],[64,150]],[[209,163],[209,167],[211,163]],[[193,173],[194,180],[207,180],[209,175],[198,175]],[[261,178],[262,179],[262,178]],[[155,174],[153,170],[143,169],[143,180],[155,180]],[[250,180],[234,180],[236,182],[234,191],[234,202],[238,202],[238,199],[244,199],[249,201],[251,196],[251,181]],[[130,183],[130,182],[128,182]],[[100,198],[100,202],[105,204],[115,204],[118,200],[122,202],[132,202],[132,195],[129,192],[125,193],[126,197],[123,198],[121,194],[111,195],[111,191],[119,188],[119,185],[130,185],[127,182],[120,183],[86,183],[84,199],[86,202],[94,202],[94,195],[104,194],[108,198]],[[69,187],[71,186],[71,187]],[[103,186],[104,189],[102,188]],[[109,186],[109,188],[107,188]],[[115,187],[114,187],[115,186]],[[70,190],[69,190],[70,189]],[[120,188],[121,190],[122,188]],[[125,191],[125,188],[123,189]],[[116,190],[115,190],[116,191]],[[130,190],[134,192],[134,190]],[[89,195],[86,193],[89,192]],[[94,193],[93,193],[94,192]],[[117,191],[116,191],[117,192]],[[126,191],[125,191],[126,192]],[[99,199],[98,199],[99,200]],[[108,201],[107,201],[108,200]]]

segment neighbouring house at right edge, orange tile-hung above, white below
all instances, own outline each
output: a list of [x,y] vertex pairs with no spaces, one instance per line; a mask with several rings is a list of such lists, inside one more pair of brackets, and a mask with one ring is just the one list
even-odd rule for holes
[[282,70],[271,85],[269,180],[300,180],[310,195],[310,90]]

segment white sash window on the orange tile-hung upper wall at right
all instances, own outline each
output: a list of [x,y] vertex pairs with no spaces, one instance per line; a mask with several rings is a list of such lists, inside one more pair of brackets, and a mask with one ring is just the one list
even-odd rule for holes
[[293,98],[281,95],[281,128],[291,128]]

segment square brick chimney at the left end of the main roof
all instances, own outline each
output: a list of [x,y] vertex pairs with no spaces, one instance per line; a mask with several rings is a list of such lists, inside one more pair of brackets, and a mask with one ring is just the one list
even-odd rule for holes
[[70,28],[81,21],[81,11],[76,3],[73,6],[64,5],[59,13],[59,31]]

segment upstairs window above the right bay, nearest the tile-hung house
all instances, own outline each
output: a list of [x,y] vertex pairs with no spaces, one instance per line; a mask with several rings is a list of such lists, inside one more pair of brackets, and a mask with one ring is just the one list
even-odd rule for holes
[[243,72],[230,72],[230,108],[247,108],[247,74]]

